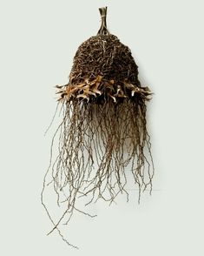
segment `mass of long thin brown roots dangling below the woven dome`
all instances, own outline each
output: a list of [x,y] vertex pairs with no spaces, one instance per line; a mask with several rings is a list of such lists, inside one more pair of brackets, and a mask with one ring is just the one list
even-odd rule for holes
[[95,217],[77,209],[77,200],[84,198],[87,200],[85,205],[98,199],[112,204],[119,193],[125,193],[128,200],[127,166],[139,187],[139,200],[141,190],[150,186],[151,191],[154,165],[146,128],[146,105],[141,94],[135,99],[123,98],[119,104],[114,101],[93,104],[77,98],[62,100],[63,122],[56,131],[58,155],[53,161],[51,152],[43,191],[49,176],[57,204],[67,206],[57,221],[49,215],[53,224],[49,233],[57,230],[63,237],[59,226],[63,222],[68,224],[75,211]]

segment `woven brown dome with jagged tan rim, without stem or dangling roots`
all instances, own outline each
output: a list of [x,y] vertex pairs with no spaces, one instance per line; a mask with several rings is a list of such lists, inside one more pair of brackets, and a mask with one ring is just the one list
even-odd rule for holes
[[151,92],[141,87],[138,67],[128,46],[114,35],[90,37],[76,51],[69,84],[56,86],[60,100],[66,98],[102,103],[145,99]]

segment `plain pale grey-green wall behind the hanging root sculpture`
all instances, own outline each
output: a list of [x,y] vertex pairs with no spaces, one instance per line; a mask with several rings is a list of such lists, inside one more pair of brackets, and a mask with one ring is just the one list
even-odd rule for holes
[[[155,157],[152,197],[137,205],[93,206],[68,229],[75,251],[57,234],[40,192],[56,108],[77,47],[100,26],[128,44],[143,84],[155,91],[148,123]],[[203,8],[200,0],[1,1],[1,255],[204,255]]]

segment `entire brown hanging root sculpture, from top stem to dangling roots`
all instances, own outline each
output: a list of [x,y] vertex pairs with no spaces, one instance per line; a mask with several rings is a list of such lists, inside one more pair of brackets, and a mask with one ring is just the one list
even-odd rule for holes
[[128,199],[126,169],[139,188],[139,199],[141,191],[152,189],[154,165],[146,126],[146,102],[152,93],[141,87],[131,51],[107,30],[107,8],[100,13],[102,26],[76,51],[69,83],[56,85],[63,121],[53,138],[53,143],[59,140],[58,152],[51,157],[43,192],[49,179],[57,204],[65,205],[62,217],[54,221],[43,205],[53,224],[50,232],[57,230],[62,237],[60,226],[74,212],[89,215],[77,208],[77,201],[89,205],[103,199],[111,204],[119,193]]

